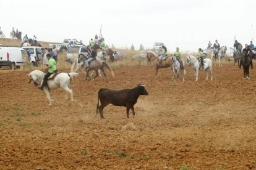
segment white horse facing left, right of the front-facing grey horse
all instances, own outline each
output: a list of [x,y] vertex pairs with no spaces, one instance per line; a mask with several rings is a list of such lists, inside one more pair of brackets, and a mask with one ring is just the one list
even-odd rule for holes
[[195,71],[195,81],[198,80],[198,70],[205,70],[205,72],[207,74],[207,78],[205,80],[207,80],[208,79],[208,68],[209,68],[210,73],[211,73],[211,80],[213,80],[213,70],[212,70],[211,60],[210,59],[203,59],[203,62],[204,62],[204,66],[202,68],[201,67],[201,62],[199,61],[199,59],[197,59],[193,55],[187,56],[187,63]]

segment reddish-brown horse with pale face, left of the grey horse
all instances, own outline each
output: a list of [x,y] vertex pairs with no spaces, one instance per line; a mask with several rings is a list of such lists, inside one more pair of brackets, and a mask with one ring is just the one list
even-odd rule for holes
[[147,59],[148,62],[152,62],[153,66],[155,67],[155,75],[158,75],[158,68],[168,68],[171,67],[171,58],[166,57],[165,60],[161,60],[160,64],[158,62],[158,55],[155,54],[153,51],[147,52]]

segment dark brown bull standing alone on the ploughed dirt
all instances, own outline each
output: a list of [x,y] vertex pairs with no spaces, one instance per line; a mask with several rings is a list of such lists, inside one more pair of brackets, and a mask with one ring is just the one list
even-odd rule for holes
[[[110,89],[100,89],[98,91],[98,103],[96,108],[96,115],[100,111],[100,118],[104,119],[103,108],[105,108],[109,103],[114,106],[126,107],[127,118],[129,118],[130,108],[132,109],[132,116],[134,118],[135,111],[134,105],[137,103],[137,100],[140,95],[148,95],[145,85],[139,84],[133,89],[125,89],[121,91],[113,91]],[[99,106],[99,100],[101,105]]]

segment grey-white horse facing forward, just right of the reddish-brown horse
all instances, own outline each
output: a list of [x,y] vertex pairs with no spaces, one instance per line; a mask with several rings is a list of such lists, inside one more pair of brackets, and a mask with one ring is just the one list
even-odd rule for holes
[[[173,79],[175,81],[177,81],[179,79],[179,73],[182,73],[183,81],[185,81],[184,75],[186,75],[186,70],[185,70],[184,60],[181,59],[181,62],[183,65],[182,68],[181,68],[181,63],[179,63],[179,61],[177,60],[177,58],[174,55],[172,55],[172,57],[171,57],[171,62],[173,63]],[[176,78],[176,74],[177,74],[177,78]]]

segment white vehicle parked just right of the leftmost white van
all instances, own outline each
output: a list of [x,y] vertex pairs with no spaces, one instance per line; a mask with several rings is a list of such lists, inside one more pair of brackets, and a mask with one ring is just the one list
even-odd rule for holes
[[29,51],[30,53],[30,65],[38,66],[38,62],[43,60],[43,47],[22,47],[26,52]]

